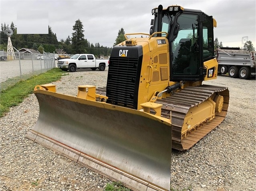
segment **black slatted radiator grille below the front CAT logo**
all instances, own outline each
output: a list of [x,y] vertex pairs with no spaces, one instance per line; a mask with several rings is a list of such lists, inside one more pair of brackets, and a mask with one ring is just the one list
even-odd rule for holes
[[135,94],[138,92],[136,90],[138,88],[136,85],[138,61],[137,58],[111,57],[107,79],[109,103],[130,108],[137,107],[137,103],[135,103],[137,95]]

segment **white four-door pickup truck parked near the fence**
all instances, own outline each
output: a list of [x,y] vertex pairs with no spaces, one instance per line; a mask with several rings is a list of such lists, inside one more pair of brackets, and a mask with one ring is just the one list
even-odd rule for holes
[[93,54],[75,54],[68,59],[60,59],[57,64],[63,71],[75,72],[77,69],[104,71],[109,66],[108,59],[95,59]]

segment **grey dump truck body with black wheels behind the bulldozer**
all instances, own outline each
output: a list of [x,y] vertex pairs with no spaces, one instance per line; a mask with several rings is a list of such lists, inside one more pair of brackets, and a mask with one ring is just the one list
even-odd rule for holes
[[240,48],[221,47],[217,52],[218,74],[229,77],[250,79],[255,77],[256,51],[240,50]]

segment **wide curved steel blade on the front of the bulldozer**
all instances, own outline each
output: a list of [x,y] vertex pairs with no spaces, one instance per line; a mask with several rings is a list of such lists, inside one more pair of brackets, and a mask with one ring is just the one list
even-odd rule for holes
[[27,138],[133,190],[170,189],[170,123],[105,102],[34,94],[40,113]]

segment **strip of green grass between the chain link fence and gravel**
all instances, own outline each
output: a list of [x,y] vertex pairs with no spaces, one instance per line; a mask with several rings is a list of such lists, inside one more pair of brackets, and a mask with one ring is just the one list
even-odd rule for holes
[[28,97],[36,85],[57,81],[64,73],[67,72],[54,68],[27,80],[18,81],[14,86],[2,90],[0,93],[0,117],[4,116],[10,110],[10,107],[17,106],[24,98]]

